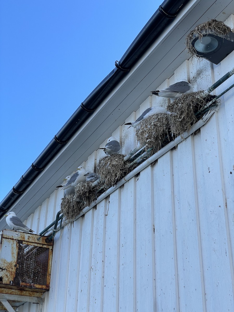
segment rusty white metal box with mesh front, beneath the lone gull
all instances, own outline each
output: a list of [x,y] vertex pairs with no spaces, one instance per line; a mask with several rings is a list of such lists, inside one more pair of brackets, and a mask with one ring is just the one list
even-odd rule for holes
[[46,291],[50,288],[53,242],[25,232],[2,230],[0,242],[1,288]]

